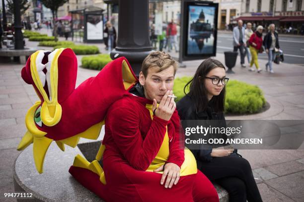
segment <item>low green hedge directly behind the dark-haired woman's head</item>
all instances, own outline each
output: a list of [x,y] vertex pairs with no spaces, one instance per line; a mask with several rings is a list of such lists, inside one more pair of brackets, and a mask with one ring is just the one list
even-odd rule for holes
[[[191,77],[176,78],[174,80],[174,95],[180,100],[184,94],[184,86]],[[186,93],[188,93],[186,89]],[[258,86],[245,82],[229,80],[226,87],[225,112],[234,114],[256,113],[265,106],[266,100]]]

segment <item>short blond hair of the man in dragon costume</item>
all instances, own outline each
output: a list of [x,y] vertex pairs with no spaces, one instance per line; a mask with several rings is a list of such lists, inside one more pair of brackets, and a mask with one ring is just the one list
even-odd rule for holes
[[174,75],[176,73],[176,70],[178,68],[178,63],[175,59],[171,57],[168,53],[164,51],[155,51],[151,52],[143,61],[142,69],[145,78],[147,78],[148,70],[152,67],[157,67],[158,71],[161,72],[170,66],[173,66],[174,68]]

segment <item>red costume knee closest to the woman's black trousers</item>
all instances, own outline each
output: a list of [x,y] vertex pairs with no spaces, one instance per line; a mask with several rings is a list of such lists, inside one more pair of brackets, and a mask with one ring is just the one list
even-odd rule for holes
[[193,200],[195,202],[219,202],[219,196],[213,184],[199,170],[194,180]]

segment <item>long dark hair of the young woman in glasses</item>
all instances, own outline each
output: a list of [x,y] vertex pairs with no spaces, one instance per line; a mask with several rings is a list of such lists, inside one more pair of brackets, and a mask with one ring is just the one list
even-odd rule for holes
[[[184,87],[184,93],[186,94],[186,88],[190,85],[189,93],[187,95],[191,97],[192,101],[194,101],[194,107],[197,112],[205,111],[207,108],[208,97],[204,81],[207,74],[216,67],[222,67],[225,69],[225,66],[219,60],[213,58],[204,60],[197,68],[194,77]],[[211,99],[215,111],[224,111],[225,95],[226,87],[224,86],[220,95],[213,96]]]

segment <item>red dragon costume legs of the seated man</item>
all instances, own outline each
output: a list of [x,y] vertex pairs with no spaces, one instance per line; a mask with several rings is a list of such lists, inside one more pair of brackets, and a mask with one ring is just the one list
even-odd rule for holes
[[[90,170],[71,166],[69,172],[84,187],[94,192],[106,202],[219,202],[218,194],[205,175],[182,176],[171,189],[160,185],[161,174],[138,171],[127,163],[112,162],[109,172],[105,171],[106,185],[99,181],[99,176]],[[105,166],[107,170],[107,166]],[[109,167],[108,167],[109,169]]]

